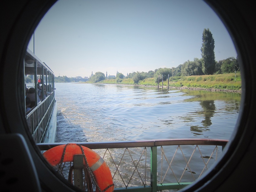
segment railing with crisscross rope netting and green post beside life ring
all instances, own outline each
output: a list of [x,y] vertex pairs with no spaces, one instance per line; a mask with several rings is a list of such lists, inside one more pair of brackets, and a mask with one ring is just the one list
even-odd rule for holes
[[[94,150],[104,159],[111,170],[114,191],[155,192],[178,190],[197,180],[221,156],[227,142],[166,139],[76,144]],[[38,143],[37,146],[46,151],[62,144],[67,143]]]

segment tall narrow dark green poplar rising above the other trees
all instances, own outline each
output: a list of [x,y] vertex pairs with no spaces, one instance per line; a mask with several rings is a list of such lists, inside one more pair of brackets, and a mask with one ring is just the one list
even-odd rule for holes
[[214,54],[214,38],[211,31],[204,29],[202,35],[202,71],[204,74],[209,75],[214,73],[215,68],[215,54]]

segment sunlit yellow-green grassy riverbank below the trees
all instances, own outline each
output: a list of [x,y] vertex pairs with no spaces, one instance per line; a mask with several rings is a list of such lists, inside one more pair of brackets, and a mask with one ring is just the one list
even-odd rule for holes
[[[88,81],[88,83],[91,83]],[[122,79],[121,82],[116,82],[116,79],[106,79],[99,81],[103,84],[134,84],[131,78]],[[157,87],[154,78],[146,78],[138,82],[141,86]],[[163,82],[164,87],[168,87],[168,80]],[[162,87],[162,82],[159,82],[159,88]],[[241,76],[240,73],[218,74],[218,75],[198,75],[198,76],[183,76],[170,77],[169,87],[181,89],[203,89],[203,90],[220,90],[220,91],[241,91]]]

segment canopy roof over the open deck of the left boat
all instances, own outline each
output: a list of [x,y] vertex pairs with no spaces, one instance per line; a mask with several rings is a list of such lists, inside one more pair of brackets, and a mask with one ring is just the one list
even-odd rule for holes
[[35,61],[36,61],[36,74],[37,75],[45,75],[45,74],[53,74],[53,71],[42,62],[30,49],[27,49],[24,58],[24,68],[26,75],[34,75],[35,74]]

